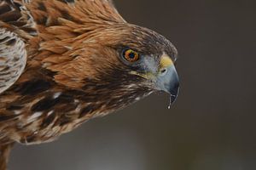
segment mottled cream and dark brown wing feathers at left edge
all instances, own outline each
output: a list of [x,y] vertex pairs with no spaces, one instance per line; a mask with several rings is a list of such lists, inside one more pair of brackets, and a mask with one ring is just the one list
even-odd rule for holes
[[23,1],[0,0],[0,94],[10,88],[26,66],[26,42],[37,36]]

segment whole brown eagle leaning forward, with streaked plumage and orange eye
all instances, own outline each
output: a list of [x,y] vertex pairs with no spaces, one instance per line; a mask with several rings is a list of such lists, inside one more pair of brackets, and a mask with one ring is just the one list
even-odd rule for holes
[[0,0],[0,169],[155,91],[176,99],[177,49],[110,0]]

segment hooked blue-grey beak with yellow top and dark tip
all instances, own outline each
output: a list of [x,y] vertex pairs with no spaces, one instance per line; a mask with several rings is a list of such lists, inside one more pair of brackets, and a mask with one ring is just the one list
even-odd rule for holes
[[156,80],[157,89],[171,94],[171,102],[174,103],[179,92],[179,78],[172,59],[164,54],[160,59],[160,71]]

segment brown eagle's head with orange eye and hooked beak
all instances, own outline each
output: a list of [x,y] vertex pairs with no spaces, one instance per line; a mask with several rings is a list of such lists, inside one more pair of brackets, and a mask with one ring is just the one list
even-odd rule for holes
[[177,97],[177,49],[165,37],[127,23],[97,26],[73,46],[75,59],[55,76],[96,108],[115,110],[155,91]]

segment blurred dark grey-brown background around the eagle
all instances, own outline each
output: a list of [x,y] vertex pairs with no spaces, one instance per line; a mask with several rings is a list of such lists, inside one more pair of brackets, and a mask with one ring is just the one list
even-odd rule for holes
[[256,169],[256,1],[115,1],[179,51],[176,105],[154,94],[50,144],[16,145],[9,169]]

